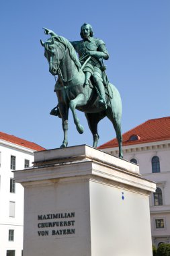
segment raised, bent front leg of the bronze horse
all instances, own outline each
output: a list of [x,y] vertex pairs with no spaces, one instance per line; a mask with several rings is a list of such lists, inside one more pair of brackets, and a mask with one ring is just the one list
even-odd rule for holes
[[85,100],[85,96],[83,94],[79,94],[74,100],[71,100],[70,102],[70,108],[73,113],[73,119],[77,128],[77,131],[79,133],[83,133],[84,128],[83,126],[79,123],[79,119],[77,117],[77,113],[75,111],[76,106],[83,106],[87,103],[87,100]]

